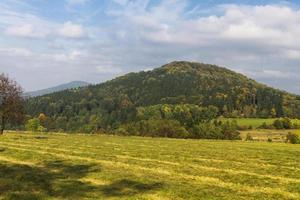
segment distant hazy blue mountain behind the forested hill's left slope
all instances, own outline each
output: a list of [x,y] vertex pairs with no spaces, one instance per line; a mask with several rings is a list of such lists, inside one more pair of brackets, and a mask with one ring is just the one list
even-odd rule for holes
[[90,85],[90,84],[87,83],[87,82],[84,82],[84,81],[72,81],[72,82],[69,82],[69,83],[61,84],[61,85],[51,87],[51,88],[47,88],[47,89],[26,92],[25,96],[37,97],[37,96],[42,96],[42,95],[45,95],[45,94],[51,94],[53,92],[59,92],[59,91],[62,91],[62,90],[85,87],[85,86],[88,86],[88,85]]

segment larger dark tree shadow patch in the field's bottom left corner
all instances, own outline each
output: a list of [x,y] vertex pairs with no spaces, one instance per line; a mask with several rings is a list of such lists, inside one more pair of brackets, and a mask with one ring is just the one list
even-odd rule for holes
[[0,197],[4,199],[81,199],[96,189],[79,179],[98,166],[74,165],[63,161],[34,167],[18,164],[0,164]]

